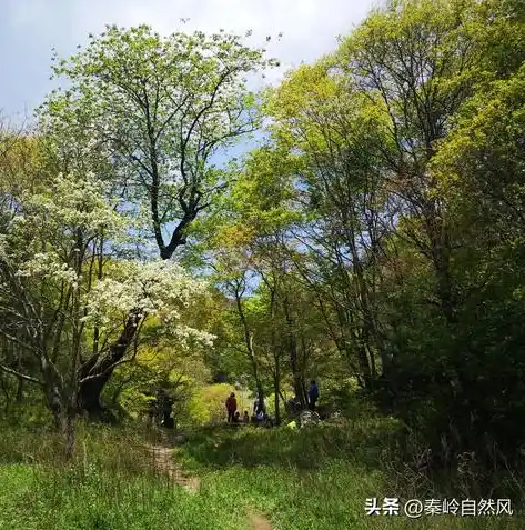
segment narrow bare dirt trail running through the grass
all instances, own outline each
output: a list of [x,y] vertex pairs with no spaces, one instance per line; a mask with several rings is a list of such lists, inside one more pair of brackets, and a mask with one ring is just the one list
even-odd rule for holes
[[[151,458],[153,459],[153,467],[161,474],[168,476],[173,484],[182,486],[190,493],[198,493],[201,480],[199,477],[190,477],[186,474],[181,466],[173,460],[174,440],[162,438],[161,444],[147,446]],[[255,511],[248,512],[248,522],[250,530],[273,530],[270,520]]]

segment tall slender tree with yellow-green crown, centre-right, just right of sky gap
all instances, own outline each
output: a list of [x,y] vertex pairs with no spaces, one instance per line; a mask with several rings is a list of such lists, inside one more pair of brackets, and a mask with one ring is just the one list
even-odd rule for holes
[[[301,153],[297,198],[307,214],[294,229],[293,262],[326,331],[363,386],[386,367],[376,292],[392,199],[381,169],[385,119],[329,59],[302,67],[270,94],[272,134]],[[306,204],[304,202],[306,201]]]

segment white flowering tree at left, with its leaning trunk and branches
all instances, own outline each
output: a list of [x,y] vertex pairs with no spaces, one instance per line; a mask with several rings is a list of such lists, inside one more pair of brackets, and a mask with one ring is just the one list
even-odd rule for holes
[[129,220],[107,183],[59,176],[47,191],[14,199],[0,239],[0,336],[26,352],[31,369],[9,358],[0,358],[0,369],[41,386],[67,431],[87,408],[82,397],[133,357],[148,319],[174,340],[210,340],[180,321],[202,282],[174,262],[114,256]]

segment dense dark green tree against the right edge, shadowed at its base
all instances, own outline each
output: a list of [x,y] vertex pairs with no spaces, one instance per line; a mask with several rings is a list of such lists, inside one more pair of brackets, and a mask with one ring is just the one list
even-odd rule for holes
[[[455,374],[450,403],[464,446],[497,447],[515,458],[525,440],[524,410],[525,71],[479,90],[433,160],[454,222],[464,310],[448,356]],[[503,398],[505,396],[505,398]],[[458,406],[457,403],[462,403]]]

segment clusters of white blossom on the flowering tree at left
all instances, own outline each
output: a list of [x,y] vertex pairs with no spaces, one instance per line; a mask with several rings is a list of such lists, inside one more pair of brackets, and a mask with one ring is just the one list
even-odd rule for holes
[[[62,303],[59,293],[69,286],[75,300],[67,309],[74,312],[71,319],[83,321],[85,329],[97,326],[108,336],[134,314],[140,321],[157,319],[159,332],[175,337],[182,346],[191,348],[195,341],[212,344],[213,336],[181,323],[184,308],[206,284],[191,278],[178,263],[110,260],[101,280],[92,271],[89,276],[94,251],[94,247],[88,248],[90,241],[103,237],[114,244],[121,238],[124,243],[127,232],[142,223],[133,223],[119,212],[119,203],[103,181],[93,174],[60,174],[49,190],[28,193],[22,203],[23,221],[19,218],[8,238],[0,234],[0,257],[14,251],[17,274],[29,286],[46,280],[49,292],[55,290],[57,303]],[[54,303],[53,297],[48,301]]]

